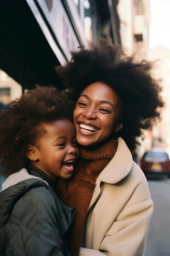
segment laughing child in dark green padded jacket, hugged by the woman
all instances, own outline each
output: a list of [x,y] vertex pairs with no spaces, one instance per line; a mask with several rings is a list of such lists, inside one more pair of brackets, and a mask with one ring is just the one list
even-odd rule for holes
[[73,107],[66,92],[37,86],[0,114],[7,175],[0,193],[1,256],[70,255],[66,231],[74,209],[53,188],[57,177],[72,176],[79,155]]

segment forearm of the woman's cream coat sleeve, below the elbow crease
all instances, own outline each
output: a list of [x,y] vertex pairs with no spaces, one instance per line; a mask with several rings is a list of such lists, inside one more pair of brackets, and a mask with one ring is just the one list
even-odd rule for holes
[[106,233],[102,252],[109,256],[144,256],[152,211],[151,200],[123,210]]

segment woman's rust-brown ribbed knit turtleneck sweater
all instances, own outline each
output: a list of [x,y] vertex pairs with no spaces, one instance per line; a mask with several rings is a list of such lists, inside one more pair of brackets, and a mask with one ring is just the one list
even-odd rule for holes
[[80,155],[73,176],[69,180],[58,180],[57,195],[66,205],[75,207],[75,218],[69,237],[72,256],[79,255],[83,229],[96,179],[115,155],[117,144],[117,140],[112,139],[98,147],[80,146]]

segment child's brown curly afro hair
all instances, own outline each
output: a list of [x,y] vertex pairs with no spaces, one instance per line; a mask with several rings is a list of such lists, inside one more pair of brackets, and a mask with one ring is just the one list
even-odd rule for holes
[[0,113],[0,158],[4,174],[20,171],[28,164],[27,144],[35,145],[46,130],[43,123],[69,119],[73,122],[75,102],[67,90],[61,92],[52,86],[36,86],[11,101],[10,107]]

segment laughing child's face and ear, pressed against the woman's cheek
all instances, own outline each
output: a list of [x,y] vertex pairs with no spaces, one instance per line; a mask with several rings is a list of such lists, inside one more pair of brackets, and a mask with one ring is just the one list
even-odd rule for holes
[[[68,179],[73,175],[79,150],[75,127],[68,119],[44,123],[46,132],[36,141],[36,146],[28,145],[27,157],[31,164],[46,173],[53,182],[56,177]],[[65,163],[71,161],[71,163]]]

